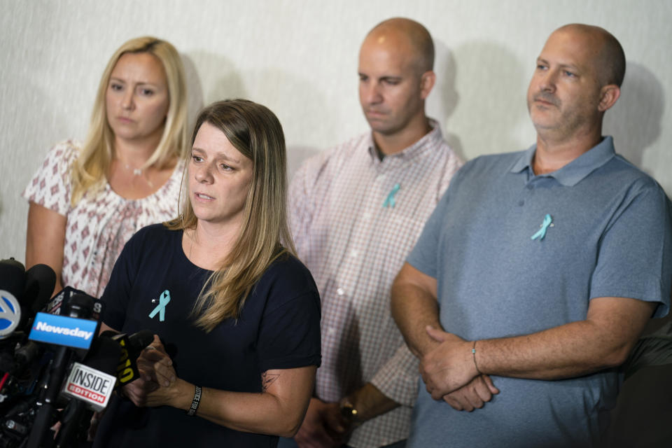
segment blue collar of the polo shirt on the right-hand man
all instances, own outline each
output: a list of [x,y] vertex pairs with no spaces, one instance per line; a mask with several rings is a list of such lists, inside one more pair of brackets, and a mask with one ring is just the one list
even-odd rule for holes
[[[532,159],[536,149],[537,145],[533,144],[526,151],[523,151],[511,168],[511,172],[520,173],[524,169],[528,169],[530,174],[532,174]],[[614,155],[614,139],[608,135],[596,146],[593,146],[561,169],[552,173],[542,174],[542,176],[552,177],[563,186],[572,187],[591,174],[591,172],[594,172],[595,169],[611,160]]]

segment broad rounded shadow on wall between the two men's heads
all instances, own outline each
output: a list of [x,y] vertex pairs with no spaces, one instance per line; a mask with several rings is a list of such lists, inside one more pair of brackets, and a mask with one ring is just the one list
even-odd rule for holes
[[[530,144],[516,136],[522,125],[529,125],[526,91],[531,69],[528,73],[516,55],[496,41],[470,41],[455,48],[453,55],[459,61],[453,69],[459,102],[448,127],[459,133],[456,141],[461,146],[456,149],[464,160],[520,151]],[[449,134],[447,139],[453,144],[457,137]]]

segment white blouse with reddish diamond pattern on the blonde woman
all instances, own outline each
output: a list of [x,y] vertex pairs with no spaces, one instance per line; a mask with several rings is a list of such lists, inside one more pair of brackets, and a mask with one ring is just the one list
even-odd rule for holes
[[72,140],[51,148],[22,196],[67,218],[63,286],[100,297],[126,241],[146,225],[177,216],[184,165],[179,162],[168,181],[147,197],[126,199],[105,183],[97,195],[85,195],[72,207],[70,169],[80,148]]

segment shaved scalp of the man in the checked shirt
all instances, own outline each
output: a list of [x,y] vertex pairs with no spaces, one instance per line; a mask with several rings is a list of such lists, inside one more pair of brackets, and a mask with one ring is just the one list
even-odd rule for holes
[[429,31],[414,20],[392,18],[373,27],[364,39],[367,42],[391,41],[400,51],[406,50],[419,73],[434,68],[434,43]]

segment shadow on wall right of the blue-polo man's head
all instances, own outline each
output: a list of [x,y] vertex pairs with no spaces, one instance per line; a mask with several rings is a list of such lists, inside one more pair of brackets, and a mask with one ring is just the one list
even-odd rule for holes
[[661,133],[665,92],[645,66],[628,63],[621,97],[604,116],[603,134],[614,136],[616,152],[640,169],[646,148]]

